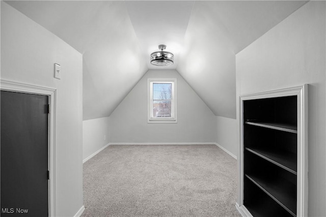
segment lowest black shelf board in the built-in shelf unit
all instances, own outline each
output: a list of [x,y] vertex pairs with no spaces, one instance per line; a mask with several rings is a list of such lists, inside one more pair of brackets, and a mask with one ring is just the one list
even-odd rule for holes
[[253,183],[255,183],[263,192],[269,197],[280,204],[291,215],[296,216],[296,188],[293,190],[293,186],[284,179],[271,180],[255,175],[248,175]]

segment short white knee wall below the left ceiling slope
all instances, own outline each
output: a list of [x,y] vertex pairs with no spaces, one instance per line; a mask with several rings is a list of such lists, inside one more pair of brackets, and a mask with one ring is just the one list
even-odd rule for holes
[[110,142],[110,117],[83,121],[83,160]]

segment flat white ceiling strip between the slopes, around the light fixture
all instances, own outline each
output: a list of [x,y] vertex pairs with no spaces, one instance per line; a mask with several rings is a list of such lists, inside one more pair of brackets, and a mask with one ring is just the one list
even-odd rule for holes
[[[175,69],[183,45],[195,1],[125,1],[135,34],[141,45],[144,59],[158,51],[158,45],[167,45],[174,54],[174,64],[165,69]],[[148,69],[160,69],[146,61]]]

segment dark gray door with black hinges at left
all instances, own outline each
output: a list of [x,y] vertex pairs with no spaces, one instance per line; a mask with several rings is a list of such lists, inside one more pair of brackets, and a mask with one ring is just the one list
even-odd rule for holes
[[48,96],[0,98],[1,216],[48,216]]

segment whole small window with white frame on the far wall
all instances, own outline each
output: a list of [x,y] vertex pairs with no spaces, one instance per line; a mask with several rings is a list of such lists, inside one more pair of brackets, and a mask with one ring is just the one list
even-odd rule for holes
[[148,78],[148,122],[176,123],[176,78]]

